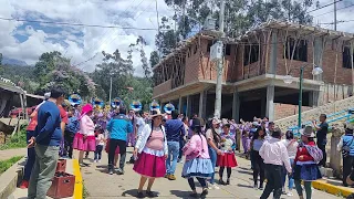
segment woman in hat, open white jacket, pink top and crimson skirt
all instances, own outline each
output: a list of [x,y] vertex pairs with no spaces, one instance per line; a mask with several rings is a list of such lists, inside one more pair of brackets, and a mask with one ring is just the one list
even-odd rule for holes
[[148,179],[146,195],[155,197],[152,187],[156,178],[166,174],[166,158],[168,156],[165,127],[162,125],[164,114],[159,109],[150,113],[150,125],[145,125],[134,148],[135,164],[133,170],[139,174],[140,182],[137,189],[137,197],[144,198],[143,187]]

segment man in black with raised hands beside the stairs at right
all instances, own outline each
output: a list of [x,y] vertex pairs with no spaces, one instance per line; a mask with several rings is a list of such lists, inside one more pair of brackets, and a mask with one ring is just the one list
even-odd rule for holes
[[325,167],[326,164],[326,151],[325,145],[327,144],[327,133],[329,133],[329,124],[326,123],[327,116],[325,114],[320,115],[321,124],[317,125],[315,121],[312,122],[314,128],[317,130],[317,147],[322,150],[323,159],[319,163],[319,166]]

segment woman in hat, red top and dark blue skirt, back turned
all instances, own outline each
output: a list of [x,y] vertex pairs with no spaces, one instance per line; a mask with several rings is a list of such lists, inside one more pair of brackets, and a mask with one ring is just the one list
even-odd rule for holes
[[312,181],[322,178],[317,164],[322,160],[322,150],[314,143],[314,133],[311,126],[301,130],[301,140],[294,159],[294,182],[300,199],[303,199],[301,180],[305,188],[306,199],[312,196]]

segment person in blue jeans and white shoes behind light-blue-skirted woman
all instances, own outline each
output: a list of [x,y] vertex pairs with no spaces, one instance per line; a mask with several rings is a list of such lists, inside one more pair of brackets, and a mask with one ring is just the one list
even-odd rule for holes
[[[207,137],[207,142],[208,142],[210,160],[212,164],[212,168],[215,170],[215,167],[217,165],[217,155],[221,154],[221,150],[219,149],[219,145],[221,142],[221,137],[219,135],[219,128],[220,128],[221,121],[218,118],[212,118],[210,121],[210,123],[211,123],[209,125],[210,128],[206,132],[206,137]],[[210,184],[211,184],[210,188],[220,189],[217,185],[215,185],[214,176],[215,176],[215,172],[211,175],[211,178],[210,178]]]

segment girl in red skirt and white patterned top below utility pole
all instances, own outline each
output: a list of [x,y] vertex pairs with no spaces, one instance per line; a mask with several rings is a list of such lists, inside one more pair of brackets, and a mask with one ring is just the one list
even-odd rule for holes
[[[237,166],[236,157],[232,151],[235,148],[235,136],[230,134],[230,124],[225,124],[222,126],[223,133],[221,134],[221,151],[222,154],[218,155],[217,165],[219,169],[219,182],[220,185],[230,185],[231,168]],[[227,167],[228,179],[225,182],[222,180],[223,169]]]

